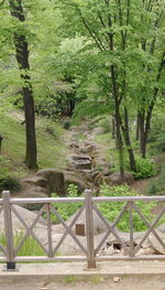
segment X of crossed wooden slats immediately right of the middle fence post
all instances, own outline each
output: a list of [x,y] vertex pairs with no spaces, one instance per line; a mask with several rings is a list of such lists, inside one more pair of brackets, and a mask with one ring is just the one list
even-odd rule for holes
[[123,206],[122,211],[120,212],[120,214],[118,215],[117,219],[113,222],[112,225],[110,225],[110,223],[102,216],[102,214],[100,213],[100,211],[98,210],[98,207],[96,206],[96,204],[94,204],[94,210],[96,211],[96,213],[98,214],[98,216],[102,219],[102,222],[105,222],[105,224],[107,225],[107,227],[109,228],[109,230],[107,232],[107,234],[105,235],[103,239],[100,241],[100,244],[98,245],[97,249],[95,250],[95,254],[97,255],[99,249],[101,248],[101,246],[103,245],[103,243],[106,241],[106,239],[109,237],[110,234],[113,234],[113,236],[121,243],[121,245],[123,246],[125,253],[128,253],[129,255],[129,248],[125,246],[125,244],[123,243],[123,240],[120,238],[120,236],[118,235],[118,233],[116,232],[114,227],[116,225],[119,223],[120,218],[122,217],[122,215],[125,213],[125,211],[128,210],[128,203]]

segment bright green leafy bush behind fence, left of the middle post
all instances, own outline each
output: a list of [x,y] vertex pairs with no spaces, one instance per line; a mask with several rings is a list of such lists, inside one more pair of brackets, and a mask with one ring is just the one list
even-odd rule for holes
[[[59,197],[57,194],[53,193],[53,197]],[[68,195],[67,197],[78,197],[77,185],[68,185]],[[77,212],[81,203],[54,203],[54,208],[61,214],[64,221],[67,221],[73,214]],[[58,218],[52,213],[52,222],[58,223]]]

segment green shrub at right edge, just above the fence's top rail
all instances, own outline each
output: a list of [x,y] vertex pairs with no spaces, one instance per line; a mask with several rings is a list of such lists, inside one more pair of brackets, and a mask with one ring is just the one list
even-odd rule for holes
[[148,185],[147,193],[150,195],[165,195],[165,165],[162,167],[160,174]]

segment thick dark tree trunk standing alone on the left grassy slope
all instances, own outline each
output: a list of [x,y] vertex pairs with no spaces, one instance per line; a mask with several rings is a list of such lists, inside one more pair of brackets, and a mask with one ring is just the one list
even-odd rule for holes
[[[24,22],[24,12],[22,8],[22,0],[9,0],[11,15],[19,21]],[[15,58],[21,72],[23,80],[23,103],[25,114],[25,129],[26,129],[26,155],[25,164],[30,169],[36,169],[36,138],[35,138],[35,115],[34,115],[34,99],[30,77],[29,64],[29,47],[26,36],[21,32],[13,34],[15,46]]]

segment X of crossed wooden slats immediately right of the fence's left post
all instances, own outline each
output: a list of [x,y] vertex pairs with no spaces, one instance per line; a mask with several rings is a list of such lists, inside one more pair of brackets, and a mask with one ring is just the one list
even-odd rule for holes
[[23,246],[24,241],[26,240],[26,238],[32,235],[33,238],[36,240],[36,243],[41,246],[41,248],[45,251],[45,254],[48,256],[48,251],[47,249],[42,245],[42,243],[40,241],[40,239],[36,237],[36,235],[33,233],[33,228],[36,225],[36,223],[38,222],[38,218],[41,217],[41,215],[45,212],[45,205],[41,208],[41,211],[38,212],[36,218],[34,219],[34,222],[31,224],[31,226],[28,226],[26,223],[23,221],[23,218],[21,217],[21,215],[18,213],[18,211],[14,208],[13,205],[11,205],[11,210],[12,212],[15,214],[15,216],[19,218],[19,221],[23,224],[23,226],[25,227],[26,232],[24,234],[23,239],[20,241],[18,248],[15,249],[15,256],[18,255],[19,250],[21,249],[21,247]]

